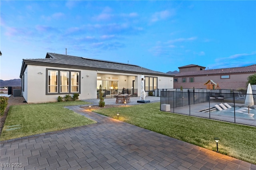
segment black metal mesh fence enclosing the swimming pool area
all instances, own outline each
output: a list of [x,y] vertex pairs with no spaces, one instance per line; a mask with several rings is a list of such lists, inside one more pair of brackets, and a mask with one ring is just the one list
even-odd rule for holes
[[[229,89],[222,89],[221,93],[219,92],[220,90],[207,89],[161,91],[160,110],[256,126],[256,91],[252,93],[252,107],[244,104],[246,95],[251,94]],[[221,104],[224,105],[224,109]],[[220,107],[221,111],[217,107]]]

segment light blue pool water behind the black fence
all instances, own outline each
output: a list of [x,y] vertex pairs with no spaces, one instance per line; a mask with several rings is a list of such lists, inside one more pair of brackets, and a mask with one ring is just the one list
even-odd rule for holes
[[[236,111],[236,117],[242,118],[242,119],[256,119],[256,109],[249,110],[248,114],[248,108],[246,107],[235,107]],[[234,107],[228,108],[226,110],[222,111],[211,111],[211,115],[218,115],[218,116],[226,116],[226,117],[234,117]]]

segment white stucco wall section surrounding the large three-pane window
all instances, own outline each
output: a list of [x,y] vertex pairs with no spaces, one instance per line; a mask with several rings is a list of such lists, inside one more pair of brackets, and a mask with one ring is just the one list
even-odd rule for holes
[[[81,71],[81,93],[79,99],[93,99],[97,97],[96,78],[97,72],[80,69],[64,69],[60,67],[45,67],[38,65],[28,65],[25,73],[25,89],[24,98],[28,103],[55,102],[58,96],[64,97],[66,94],[46,95],[46,68]],[[41,74],[42,73],[42,74]],[[87,77],[88,75],[88,77]],[[27,81],[26,81],[27,77]],[[72,96],[72,94],[71,94]]]

